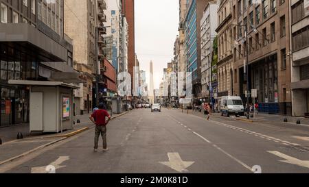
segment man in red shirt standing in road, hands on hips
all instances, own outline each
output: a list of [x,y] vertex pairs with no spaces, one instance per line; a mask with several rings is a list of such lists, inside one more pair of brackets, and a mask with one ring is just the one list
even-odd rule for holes
[[[106,121],[107,117],[107,121]],[[104,110],[104,103],[99,104],[99,110],[95,110],[89,117],[95,124],[95,146],[94,151],[98,151],[99,136],[101,134],[103,140],[103,151],[108,151],[106,144],[106,125],[111,120],[111,116]]]

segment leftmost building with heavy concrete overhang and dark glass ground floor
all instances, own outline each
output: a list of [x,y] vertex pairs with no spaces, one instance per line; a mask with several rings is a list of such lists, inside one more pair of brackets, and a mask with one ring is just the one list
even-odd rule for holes
[[0,1],[0,127],[29,123],[29,81],[73,83],[69,75],[78,75],[63,7],[63,1]]

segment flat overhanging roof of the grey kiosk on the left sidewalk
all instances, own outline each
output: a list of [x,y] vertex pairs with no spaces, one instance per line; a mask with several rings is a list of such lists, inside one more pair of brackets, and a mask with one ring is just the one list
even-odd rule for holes
[[27,81],[27,80],[8,80],[8,84],[25,85],[25,86],[60,86],[64,88],[79,89],[79,86],[74,86],[64,82],[49,82],[49,81]]

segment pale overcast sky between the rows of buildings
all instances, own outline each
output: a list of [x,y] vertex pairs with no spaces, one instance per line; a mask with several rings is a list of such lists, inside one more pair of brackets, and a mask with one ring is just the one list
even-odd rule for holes
[[163,68],[173,58],[179,26],[179,0],[135,0],[135,51],[140,69],[148,74],[154,66],[155,88],[163,77]]

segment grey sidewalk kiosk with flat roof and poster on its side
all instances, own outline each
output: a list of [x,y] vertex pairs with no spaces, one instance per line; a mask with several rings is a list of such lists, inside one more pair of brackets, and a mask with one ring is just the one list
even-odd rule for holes
[[11,81],[30,86],[30,132],[62,132],[73,129],[73,90],[62,82]]

